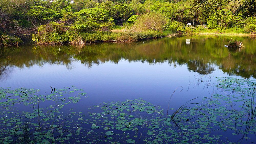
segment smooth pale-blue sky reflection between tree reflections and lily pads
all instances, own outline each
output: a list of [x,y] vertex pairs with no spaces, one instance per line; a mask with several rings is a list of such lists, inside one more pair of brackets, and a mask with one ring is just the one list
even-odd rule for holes
[[[187,65],[170,65],[167,61],[161,64],[148,64],[146,62],[129,62],[122,59],[118,64],[106,62],[92,65],[90,69],[74,61],[73,69],[67,69],[65,65],[44,64],[42,67],[34,65],[27,69],[14,68],[9,78],[1,82],[1,87],[25,87],[40,89],[41,92],[51,92],[50,86],[56,89],[64,86],[82,88],[89,98],[81,104],[81,109],[88,105],[97,105],[102,102],[124,101],[125,99],[144,100],[160,105],[167,109],[168,101],[174,93],[170,107],[177,108],[198,96],[210,97],[207,88],[197,84],[194,77],[196,72],[189,71]],[[228,76],[217,67],[210,74],[212,77]],[[205,78],[204,78],[205,80]],[[190,83],[190,85],[189,85]],[[189,89],[188,89],[189,85]],[[210,92],[211,91],[211,92]]]

